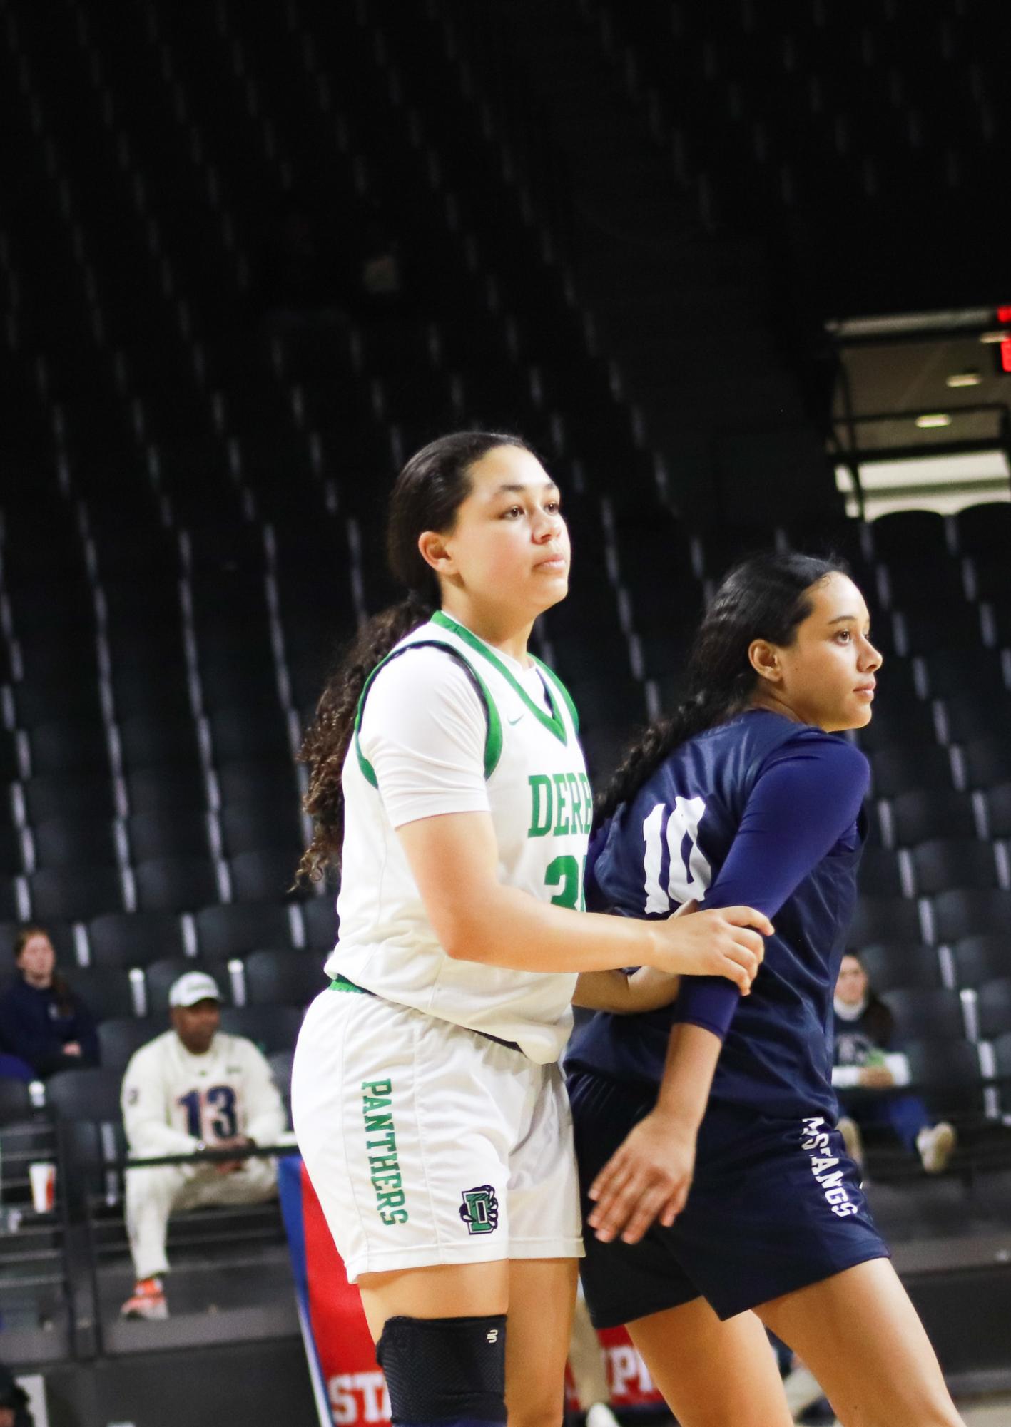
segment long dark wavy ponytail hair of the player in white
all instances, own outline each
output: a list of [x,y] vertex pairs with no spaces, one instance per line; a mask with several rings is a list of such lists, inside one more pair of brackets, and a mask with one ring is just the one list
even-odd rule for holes
[[440,606],[438,578],[418,549],[418,537],[424,531],[453,529],[457,511],[470,495],[471,468],[488,451],[507,445],[530,450],[517,435],[456,431],[423,447],[397,477],[387,509],[386,557],[407,595],[363,625],[320,695],[298,753],[300,762],[308,765],[303,806],[313,819],[313,841],[298,863],[296,882],[318,882],[328,866],[340,866],[344,839],[340,778],[366,679],[404,635]]

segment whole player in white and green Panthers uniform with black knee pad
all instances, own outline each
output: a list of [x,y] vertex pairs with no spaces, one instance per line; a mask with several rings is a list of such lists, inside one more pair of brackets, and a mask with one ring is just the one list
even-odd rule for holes
[[510,1427],[554,1427],[581,1254],[557,1067],[577,973],[581,999],[615,1009],[623,966],[647,969],[647,995],[657,972],[747,990],[771,928],[750,908],[581,910],[575,709],[527,654],[567,592],[568,535],[520,440],[460,432],[413,457],[387,548],[410,595],[360,634],[303,749],[300,870],[340,860],[341,892],[296,1133],[394,1423],[498,1424],[508,1403]]

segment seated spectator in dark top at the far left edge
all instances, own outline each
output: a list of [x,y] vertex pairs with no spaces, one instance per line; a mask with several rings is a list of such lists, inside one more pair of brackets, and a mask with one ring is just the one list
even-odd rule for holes
[[0,1049],[40,1077],[97,1066],[94,1017],[57,972],[44,928],[21,928],[14,962],[17,975],[0,995]]

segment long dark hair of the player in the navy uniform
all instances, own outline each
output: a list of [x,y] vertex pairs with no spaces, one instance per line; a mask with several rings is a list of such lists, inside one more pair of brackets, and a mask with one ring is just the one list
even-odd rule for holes
[[793,644],[797,625],[811,614],[811,588],[834,574],[848,574],[844,561],[770,551],[751,555],[725,575],[688,655],[684,702],[654,719],[625,749],[597,799],[597,822],[628,802],[675,748],[748,706],[758,681],[748,659],[751,642]]

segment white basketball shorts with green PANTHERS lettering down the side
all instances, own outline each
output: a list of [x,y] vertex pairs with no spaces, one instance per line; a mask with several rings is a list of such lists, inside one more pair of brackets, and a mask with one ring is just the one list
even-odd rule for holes
[[348,1280],[583,1256],[557,1065],[377,996],[308,1007],[291,1114]]

